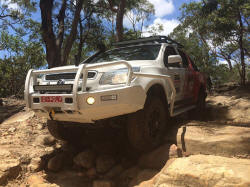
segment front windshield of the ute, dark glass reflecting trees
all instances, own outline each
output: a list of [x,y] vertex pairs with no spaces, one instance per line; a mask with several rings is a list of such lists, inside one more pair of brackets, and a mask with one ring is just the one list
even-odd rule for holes
[[108,62],[117,60],[155,60],[161,45],[143,45],[113,49],[100,53],[88,63]]

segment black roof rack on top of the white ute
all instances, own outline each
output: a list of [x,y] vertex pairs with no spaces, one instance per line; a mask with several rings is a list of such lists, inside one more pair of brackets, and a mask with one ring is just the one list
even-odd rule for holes
[[113,43],[113,45],[117,46],[117,47],[122,47],[122,46],[127,46],[127,45],[136,45],[136,44],[152,43],[152,42],[175,44],[179,48],[184,47],[182,44],[178,43],[175,40],[172,40],[171,38],[169,38],[167,36],[150,36],[150,37],[146,37],[146,38],[139,38],[137,40],[128,40],[128,41],[116,42],[116,43]]

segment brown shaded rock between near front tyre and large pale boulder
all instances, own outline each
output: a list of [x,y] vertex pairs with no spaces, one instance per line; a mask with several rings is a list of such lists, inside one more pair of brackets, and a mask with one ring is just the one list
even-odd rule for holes
[[[161,169],[169,159],[170,144],[165,144],[139,158],[138,165],[142,168]],[[173,154],[173,153],[171,153]]]

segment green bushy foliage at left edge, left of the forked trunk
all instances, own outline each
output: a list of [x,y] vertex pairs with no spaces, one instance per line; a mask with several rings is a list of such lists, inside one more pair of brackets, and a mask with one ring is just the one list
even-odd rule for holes
[[1,49],[5,56],[0,59],[0,97],[23,96],[24,81],[29,69],[44,66],[45,54],[41,43],[26,42],[19,36],[1,33]]

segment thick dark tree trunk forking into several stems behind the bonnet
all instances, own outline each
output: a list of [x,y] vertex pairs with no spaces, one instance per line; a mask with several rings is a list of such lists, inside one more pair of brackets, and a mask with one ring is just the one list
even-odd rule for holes
[[[46,60],[48,62],[48,67],[57,67],[67,64],[69,53],[71,51],[72,45],[75,41],[77,34],[77,25],[80,19],[80,12],[83,6],[83,0],[77,0],[76,10],[74,13],[74,19],[71,25],[71,31],[64,42],[64,20],[65,11],[67,7],[67,0],[62,1],[62,6],[57,16],[58,20],[58,33],[57,37],[53,31],[53,21],[52,21],[52,9],[54,0],[40,0],[41,18],[42,18],[42,37],[46,46]],[[63,47],[63,44],[64,47]]]

